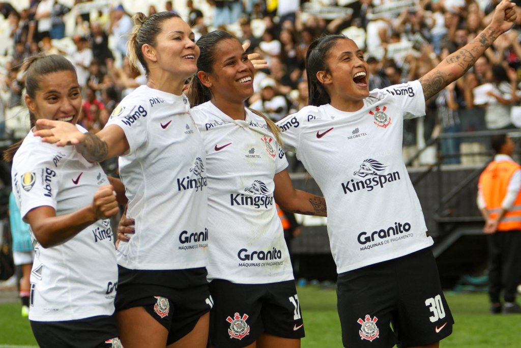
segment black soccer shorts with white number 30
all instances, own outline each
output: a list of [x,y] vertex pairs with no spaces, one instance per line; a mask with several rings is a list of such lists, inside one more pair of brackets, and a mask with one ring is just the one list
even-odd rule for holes
[[337,295],[344,347],[406,348],[452,333],[430,247],[340,274]]

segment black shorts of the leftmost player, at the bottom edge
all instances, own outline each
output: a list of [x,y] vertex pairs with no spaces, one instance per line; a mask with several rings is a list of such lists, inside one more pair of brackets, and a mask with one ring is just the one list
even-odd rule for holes
[[68,321],[33,321],[40,348],[121,348],[116,316],[102,315]]

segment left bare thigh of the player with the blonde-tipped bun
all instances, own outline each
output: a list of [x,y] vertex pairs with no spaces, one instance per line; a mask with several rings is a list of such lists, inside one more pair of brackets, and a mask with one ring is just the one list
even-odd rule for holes
[[165,348],[168,330],[143,307],[116,312],[118,333],[125,348]]

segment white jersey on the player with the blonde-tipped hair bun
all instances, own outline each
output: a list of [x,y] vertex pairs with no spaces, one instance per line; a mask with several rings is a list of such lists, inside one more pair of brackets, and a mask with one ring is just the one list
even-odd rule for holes
[[146,85],[123,98],[107,126],[117,125],[130,150],[119,173],[135,219],[130,242],[120,243],[118,264],[169,270],[206,266],[206,159],[201,134],[184,95]]

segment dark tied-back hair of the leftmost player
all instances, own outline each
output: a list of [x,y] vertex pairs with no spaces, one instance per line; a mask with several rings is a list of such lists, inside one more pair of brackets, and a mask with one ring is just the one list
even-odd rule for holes
[[[55,54],[48,56],[45,54],[31,56],[27,58],[25,64],[26,66],[24,71],[26,72],[26,93],[32,100],[34,100],[36,97],[36,92],[40,90],[40,82],[42,77],[45,75],[59,71],[71,71],[76,76],[76,69],[72,63],[65,57]],[[31,121],[31,128],[33,128],[36,124],[36,118],[31,113],[31,111],[29,111],[29,119]],[[11,145],[6,151],[4,151],[3,157],[5,161],[10,162],[13,160],[13,157],[22,144],[22,141],[23,140]]]

